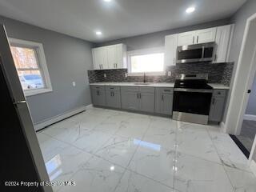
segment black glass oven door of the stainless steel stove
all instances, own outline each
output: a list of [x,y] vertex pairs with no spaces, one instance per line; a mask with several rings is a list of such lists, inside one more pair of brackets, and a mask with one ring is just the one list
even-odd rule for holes
[[174,90],[174,108],[176,112],[209,115],[212,90]]

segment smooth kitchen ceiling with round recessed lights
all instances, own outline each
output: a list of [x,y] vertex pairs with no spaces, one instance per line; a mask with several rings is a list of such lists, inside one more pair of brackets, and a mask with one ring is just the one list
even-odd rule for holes
[[[230,17],[246,0],[0,0],[0,14],[105,42]],[[192,14],[186,8],[195,6]],[[101,36],[95,32],[102,31]]]

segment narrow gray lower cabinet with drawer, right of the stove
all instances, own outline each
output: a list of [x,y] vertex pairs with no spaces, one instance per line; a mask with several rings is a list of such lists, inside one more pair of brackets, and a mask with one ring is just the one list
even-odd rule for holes
[[225,109],[226,90],[214,90],[210,104],[209,121],[222,122]]

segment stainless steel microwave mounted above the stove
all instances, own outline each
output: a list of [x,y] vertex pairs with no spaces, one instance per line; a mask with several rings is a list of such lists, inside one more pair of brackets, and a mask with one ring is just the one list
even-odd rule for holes
[[215,42],[178,46],[176,63],[213,62],[216,58],[216,48]]

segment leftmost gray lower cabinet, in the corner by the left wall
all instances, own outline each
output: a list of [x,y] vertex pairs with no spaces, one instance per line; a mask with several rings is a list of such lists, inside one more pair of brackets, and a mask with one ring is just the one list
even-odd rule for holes
[[91,97],[94,106],[106,106],[104,86],[90,86]]

